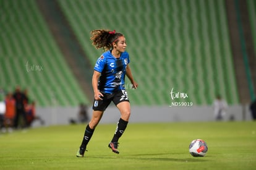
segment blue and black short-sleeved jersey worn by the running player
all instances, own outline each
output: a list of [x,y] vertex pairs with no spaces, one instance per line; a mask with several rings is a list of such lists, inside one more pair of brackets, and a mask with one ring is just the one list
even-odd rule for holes
[[119,58],[114,57],[110,50],[103,53],[94,67],[94,70],[101,73],[98,81],[98,90],[103,93],[125,90],[124,79],[129,62],[129,54],[126,51],[121,53]]

